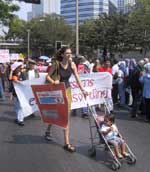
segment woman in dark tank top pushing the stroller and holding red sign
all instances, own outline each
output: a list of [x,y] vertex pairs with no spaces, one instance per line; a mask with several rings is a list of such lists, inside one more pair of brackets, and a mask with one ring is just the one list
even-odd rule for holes
[[[58,54],[56,55],[56,60],[57,60],[58,68],[59,68],[58,72],[59,72],[60,79],[59,80],[52,79],[51,76],[56,70],[56,64],[55,65],[52,64],[49,74],[46,77],[46,80],[47,80],[47,82],[49,82],[51,84],[59,84],[60,82],[65,83],[66,95],[67,95],[67,99],[68,99],[68,111],[70,112],[71,88],[70,88],[69,78],[70,78],[71,74],[74,74],[76,82],[78,83],[79,88],[81,89],[81,91],[85,97],[87,95],[87,92],[83,89],[81,82],[79,80],[76,65],[75,65],[75,63],[72,62],[71,49],[69,47],[61,48],[60,51],[58,52]],[[45,138],[47,140],[50,140],[50,128],[51,128],[51,125],[48,126],[47,131],[45,133]],[[69,152],[75,152],[75,147],[73,145],[71,145],[69,142],[69,124],[64,129],[64,142],[65,142],[65,145],[64,145],[65,150],[67,150]]]

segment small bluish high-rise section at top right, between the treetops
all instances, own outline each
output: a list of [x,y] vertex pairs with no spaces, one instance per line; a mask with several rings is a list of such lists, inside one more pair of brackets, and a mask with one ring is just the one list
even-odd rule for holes
[[128,13],[135,5],[135,0],[118,0],[118,12]]

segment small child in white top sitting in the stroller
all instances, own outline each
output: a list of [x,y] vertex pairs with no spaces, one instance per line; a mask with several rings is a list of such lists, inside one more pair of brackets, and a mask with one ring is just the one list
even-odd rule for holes
[[[101,124],[100,132],[103,134],[105,140],[109,144],[113,145],[115,155],[119,159],[129,156],[129,154],[126,152],[125,141],[119,136],[118,128],[115,125],[114,115],[108,114],[104,116],[104,121]],[[119,148],[121,148],[121,153]]]

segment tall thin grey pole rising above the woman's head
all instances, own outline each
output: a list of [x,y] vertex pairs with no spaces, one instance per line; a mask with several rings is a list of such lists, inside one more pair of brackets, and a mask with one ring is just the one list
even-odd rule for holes
[[78,0],[76,0],[76,55],[79,54],[79,10]]

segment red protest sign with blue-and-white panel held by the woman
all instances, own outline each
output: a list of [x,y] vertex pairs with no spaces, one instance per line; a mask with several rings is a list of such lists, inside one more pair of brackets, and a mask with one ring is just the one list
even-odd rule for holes
[[32,85],[43,122],[66,128],[68,101],[64,83],[57,85]]

